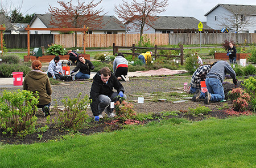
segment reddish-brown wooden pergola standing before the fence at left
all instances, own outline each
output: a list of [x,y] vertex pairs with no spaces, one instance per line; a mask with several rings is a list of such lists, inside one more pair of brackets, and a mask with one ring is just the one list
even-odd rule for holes
[[[1,25],[2,27],[2,25]],[[1,30],[1,29],[0,29]],[[27,55],[30,55],[30,31],[78,31],[83,32],[82,34],[82,41],[84,43],[84,54],[85,54],[85,35],[86,31],[88,31],[88,28],[30,28],[30,25],[27,25],[27,28],[25,28],[25,31],[27,31]],[[2,30],[1,30],[2,35]],[[1,36],[1,47],[2,47],[2,36]]]

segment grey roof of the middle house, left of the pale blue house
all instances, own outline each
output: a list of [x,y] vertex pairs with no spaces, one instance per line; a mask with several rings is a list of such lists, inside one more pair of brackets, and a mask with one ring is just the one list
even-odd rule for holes
[[[157,19],[150,26],[154,29],[198,29],[200,20],[184,16],[155,16]],[[203,24],[204,29],[212,29]]]

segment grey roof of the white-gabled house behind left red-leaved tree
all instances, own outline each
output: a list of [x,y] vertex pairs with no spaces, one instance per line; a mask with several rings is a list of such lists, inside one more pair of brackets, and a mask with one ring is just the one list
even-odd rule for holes
[[[35,14],[34,18],[30,21],[30,25],[36,18],[39,18],[47,28],[53,28],[49,25],[51,21],[51,14]],[[90,30],[90,29],[89,29]],[[125,31],[125,25],[121,23],[115,16],[102,16],[102,25],[96,31]]]

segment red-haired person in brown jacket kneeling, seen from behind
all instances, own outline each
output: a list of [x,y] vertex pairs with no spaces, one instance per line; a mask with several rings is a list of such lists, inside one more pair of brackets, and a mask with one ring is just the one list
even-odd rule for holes
[[41,70],[42,63],[38,60],[32,62],[32,70],[24,78],[23,89],[31,92],[38,91],[39,104],[38,108],[42,108],[44,116],[49,114],[49,106],[51,106],[52,88],[46,73]]

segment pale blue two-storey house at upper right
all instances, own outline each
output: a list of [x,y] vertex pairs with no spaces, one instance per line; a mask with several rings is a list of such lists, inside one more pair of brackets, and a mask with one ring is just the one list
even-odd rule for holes
[[238,22],[243,21],[244,23],[238,32],[256,33],[256,6],[254,5],[218,4],[204,16],[207,17],[209,27],[221,30],[226,27],[225,25],[229,25],[231,32],[236,31],[236,27],[231,28],[232,26],[230,26],[231,22],[236,22],[234,19],[236,16]]

